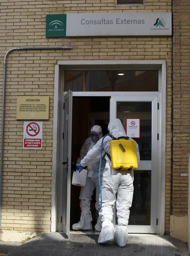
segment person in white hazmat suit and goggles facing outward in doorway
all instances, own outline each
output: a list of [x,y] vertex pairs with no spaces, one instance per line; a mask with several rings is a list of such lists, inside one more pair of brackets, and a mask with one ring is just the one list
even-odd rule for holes
[[[90,130],[90,136],[87,138],[81,148],[80,157],[77,159],[77,163],[80,163],[81,159],[86,156],[88,150],[93,148],[96,142],[102,138],[102,128],[99,125],[94,125]],[[103,170],[105,167],[105,158],[102,157],[101,163],[101,171],[100,171],[100,183],[102,182]],[[81,207],[81,218],[78,223],[73,224],[73,230],[92,230],[92,214],[90,211],[90,203],[92,201],[92,195],[94,189],[96,189],[96,203],[95,208],[98,211],[99,205],[99,197],[100,197],[100,189],[99,189],[99,165],[100,160],[92,165],[88,165],[87,177],[86,177],[86,185],[81,187],[80,192],[80,207]],[[102,220],[101,217],[98,216],[97,223],[95,225],[95,229],[100,231],[102,228]]]

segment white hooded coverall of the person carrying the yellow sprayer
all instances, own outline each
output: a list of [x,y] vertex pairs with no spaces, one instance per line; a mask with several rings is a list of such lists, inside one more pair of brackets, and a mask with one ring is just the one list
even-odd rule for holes
[[[123,125],[121,121],[117,118],[111,119],[108,125],[108,131],[115,138],[125,136],[126,133],[124,131]],[[129,138],[132,140],[132,138]],[[110,155],[109,142],[111,137],[105,137],[103,141],[103,149],[105,153]],[[100,158],[101,152],[101,143],[102,139],[100,139],[96,145],[88,151],[87,155],[81,160],[82,166],[87,166],[92,164],[96,158]],[[140,155],[138,144],[136,144],[136,154],[137,154],[137,162],[140,162]],[[127,243],[127,225],[129,219],[129,208],[132,204],[133,199],[133,170],[127,171],[118,171],[112,170],[111,161],[108,156],[105,156],[106,164],[103,172],[102,179],[102,208],[100,210],[100,216],[102,215],[102,230],[100,232],[100,236],[98,238],[99,243],[106,243],[110,241],[115,241],[119,246],[123,247]],[[116,201],[116,193],[117,193],[117,201]],[[116,209],[117,209],[117,218],[118,218],[118,226],[116,230],[114,230],[114,226],[112,223],[113,219],[113,207],[116,201]]]

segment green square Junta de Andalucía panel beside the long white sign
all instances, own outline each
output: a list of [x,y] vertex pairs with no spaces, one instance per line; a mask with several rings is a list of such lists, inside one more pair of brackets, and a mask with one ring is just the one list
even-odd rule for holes
[[46,15],[46,37],[66,36],[66,14]]

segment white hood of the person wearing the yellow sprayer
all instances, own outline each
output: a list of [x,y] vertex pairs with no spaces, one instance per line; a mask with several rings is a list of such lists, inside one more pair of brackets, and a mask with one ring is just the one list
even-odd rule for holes
[[111,133],[116,138],[118,138],[120,136],[126,137],[126,133],[123,128],[123,125],[122,125],[120,119],[118,119],[118,118],[111,119],[108,124],[107,129],[108,129],[109,133]]

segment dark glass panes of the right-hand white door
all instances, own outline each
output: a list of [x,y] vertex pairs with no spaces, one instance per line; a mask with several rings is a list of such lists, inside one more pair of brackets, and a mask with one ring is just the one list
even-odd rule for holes
[[[125,131],[127,118],[140,118],[140,138],[134,140],[138,143],[141,161],[151,160],[151,109],[151,102],[117,102],[117,118],[122,120]],[[151,170],[134,170],[133,185],[128,225],[150,225]]]

